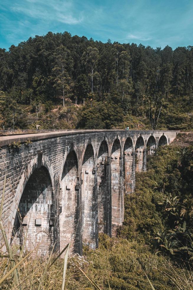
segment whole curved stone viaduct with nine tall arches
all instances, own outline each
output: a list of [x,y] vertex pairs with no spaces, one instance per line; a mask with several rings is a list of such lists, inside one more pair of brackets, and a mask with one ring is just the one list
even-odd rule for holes
[[2,218],[10,243],[22,244],[27,233],[28,250],[40,243],[38,253],[45,255],[71,242],[71,251],[81,254],[84,241],[97,247],[99,232],[116,235],[124,218],[124,193],[135,189],[135,171],[145,171],[147,154],[170,144],[177,133],[81,130],[1,136],[0,195],[6,172]]

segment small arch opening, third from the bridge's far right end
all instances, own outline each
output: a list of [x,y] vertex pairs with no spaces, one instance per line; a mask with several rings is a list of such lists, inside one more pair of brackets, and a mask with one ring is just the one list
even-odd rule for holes
[[135,170],[143,171],[145,167],[145,158],[144,158],[144,149],[145,144],[142,136],[138,137],[136,145],[135,145]]

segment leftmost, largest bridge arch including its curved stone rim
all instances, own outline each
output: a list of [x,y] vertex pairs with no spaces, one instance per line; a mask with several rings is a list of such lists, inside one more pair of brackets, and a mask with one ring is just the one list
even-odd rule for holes
[[11,243],[20,245],[27,234],[28,251],[41,242],[38,254],[46,255],[53,246],[54,182],[51,164],[46,162],[48,157],[40,155],[29,162],[22,174],[12,205],[14,211],[9,216],[9,232],[12,231]]

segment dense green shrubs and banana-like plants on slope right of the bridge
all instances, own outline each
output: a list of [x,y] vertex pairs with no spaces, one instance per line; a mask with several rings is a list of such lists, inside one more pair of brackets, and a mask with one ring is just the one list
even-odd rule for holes
[[164,146],[137,173],[136,189],[125,196],[120,236],[151,244],[178,263],[193,259],[193,146]]

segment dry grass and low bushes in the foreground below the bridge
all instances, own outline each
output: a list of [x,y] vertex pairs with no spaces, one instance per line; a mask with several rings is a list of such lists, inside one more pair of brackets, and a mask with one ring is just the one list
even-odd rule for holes
[[[61,289],[63,259],[57,259],[49,268],[53,259],[28,257],[18,267],[21,289]],[[17,258],[15,260],[17,262]],[[0,273],[8,268],[9,261],[1,258]],[[147,245],[104,234],[100,235],[99,249],[93,251],[85,246],[84,256],[74,254],[68,258],[66,289],[95,289],[79,268],[101,289],[109,289],[109,285],[111,289],[152,289],[146,275],[155,289],[193,289],[191,271],[175,266],[168,258],[158,257]],[[19,289],[11,276],[1,287]]]

